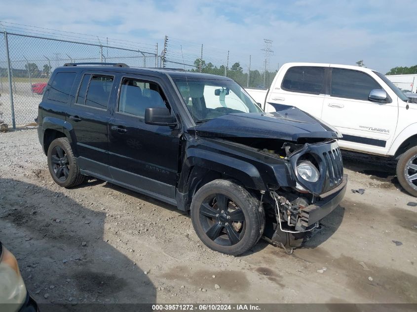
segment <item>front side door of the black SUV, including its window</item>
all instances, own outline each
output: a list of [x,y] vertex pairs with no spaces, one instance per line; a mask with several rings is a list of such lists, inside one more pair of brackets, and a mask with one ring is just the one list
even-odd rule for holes
[[168,107],[157,78],[120,77],[109,121],[110,173],[115,180],[152,196],[175,198],[181,132],[145,124],[147,107]]

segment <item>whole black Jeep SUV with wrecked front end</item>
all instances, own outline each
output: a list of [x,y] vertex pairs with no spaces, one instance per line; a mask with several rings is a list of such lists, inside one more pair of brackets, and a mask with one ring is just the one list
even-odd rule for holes
[[336,130],[293,106],[265,113],[227,77],[66,64],[38,121],[57,184],[95,177],[190,211],[201,241],[227,254],[261,237],[300,246],[346,190]]

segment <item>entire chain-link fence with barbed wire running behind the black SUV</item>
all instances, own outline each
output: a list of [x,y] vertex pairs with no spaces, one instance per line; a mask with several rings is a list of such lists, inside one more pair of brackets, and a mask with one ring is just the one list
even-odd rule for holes
[[145,52],[135,49],[130,41],[124,42],[125,48],[118,46],[123,40],[112,39],[111,44],[102,44],[97,37],[94,44],[91,39],[72,40],[71,33],[60,35],[70,39],[0,32],[0,121],[9,127],[34,122],[51,73],[65,63],[125,63],[130,67],[183,69],[226,76],[244,88],[269,88],[277,72],[268,69],[266,61],[256,63],[249,55],[168,36],[158,55],[157,44],[152,53],[151,44],[147,44]]

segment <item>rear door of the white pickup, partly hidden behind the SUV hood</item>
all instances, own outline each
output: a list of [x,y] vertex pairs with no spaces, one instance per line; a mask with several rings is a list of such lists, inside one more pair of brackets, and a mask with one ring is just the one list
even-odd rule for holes
[[[324,87],[327,67],[290,67],[281,85],[273,85],[267,102],[296,106],[303,111],[321,118],[324,101]],[[276,79],[275,81],[281,81]]]

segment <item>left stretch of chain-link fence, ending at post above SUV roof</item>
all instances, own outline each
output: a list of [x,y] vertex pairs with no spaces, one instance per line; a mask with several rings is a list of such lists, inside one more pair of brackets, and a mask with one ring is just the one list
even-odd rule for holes
[[0,32],[0,120],[9,126],[34,122],[51,73],[65,63],[125,63],[131,67],[158,67],[158,57],[156,50],[150,53]]

